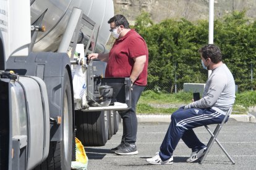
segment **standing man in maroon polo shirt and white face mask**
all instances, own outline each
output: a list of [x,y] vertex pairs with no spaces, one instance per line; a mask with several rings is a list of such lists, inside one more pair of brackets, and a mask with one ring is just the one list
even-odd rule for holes
[[129,22],[123,15],[115,15],[108,21],[110,32],[116,41],[108,54],[90,54],[88,59],[107,62],[106,78],[130,77],[132,81],[132,107],[121,112],[123,134],[121,144],[111,151],[118,155],[135,155],[137,138],[136,105],[147,85],[148,48],[144,39],[130,30]]

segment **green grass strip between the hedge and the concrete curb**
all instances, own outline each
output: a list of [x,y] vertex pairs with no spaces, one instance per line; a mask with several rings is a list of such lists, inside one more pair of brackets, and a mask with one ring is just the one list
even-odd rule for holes
[[[137,104],[138,114],[170,115],[181,105],[192,101],[192,92],[177,92],[166,94],[154,91],[142,92]],[[236,102],[233,106],[233,114],[242,115],[248,112],[248,107],[256,105],[256,92],[246,91],[236,94]]]

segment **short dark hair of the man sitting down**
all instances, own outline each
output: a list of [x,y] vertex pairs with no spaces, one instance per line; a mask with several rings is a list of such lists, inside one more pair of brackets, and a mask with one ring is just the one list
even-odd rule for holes
[[222,61],[220,48],[215,44],[205,45],[199,49],[199,52],[202,54],[203,59],[210,58],[213,63],[219,63]]

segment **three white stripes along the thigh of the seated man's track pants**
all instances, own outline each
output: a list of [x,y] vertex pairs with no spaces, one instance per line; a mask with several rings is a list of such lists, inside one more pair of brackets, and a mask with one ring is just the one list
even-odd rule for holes
[[202,121],[205,119],[211,119],[211,118],[218,118],[218,116],[220,116],[221,113],[218,113],[217,111],[215,113],[211,113],[210,115],[201,115],[201,116],[195,116],[193,118],[187,118],[184,119],[182,121],[179,121],[176,126],[179,127],[183,127],[184,129],[187,129],[186,127],[184,127],[184,125],[188,124],[188,123],[192,123],[192,122],[196,122],[196,121]]

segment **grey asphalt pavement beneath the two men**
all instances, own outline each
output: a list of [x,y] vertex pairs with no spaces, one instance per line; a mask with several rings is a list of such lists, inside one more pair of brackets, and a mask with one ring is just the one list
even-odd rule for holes
[[[203,164],[186,163],[191,150],[182,140],[174,151],[174,163],[166,165],[147,164],[146,158],[155,155],[169,123],[142,123],[138,125],[137,149],[138,155],[119,156],[110,152],[110,148],[120,144],[122,124],[119,131],[104,147],[85,147],[88,156],[88,169],[256,169],[256,123],[238,122],[229,119],[224,124],[218,136],[223,147],[233,157],[236,164],[232,164],[221,148],[215,143]],[[210,126],[211,129],[214,126]],[[207,144],[210,134],[204,127],[195,128],[198,138]]]

